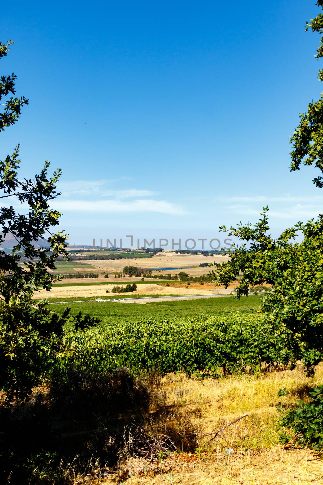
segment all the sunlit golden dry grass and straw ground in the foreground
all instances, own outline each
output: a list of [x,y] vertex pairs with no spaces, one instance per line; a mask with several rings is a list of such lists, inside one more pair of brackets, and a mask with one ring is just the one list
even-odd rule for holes
[[[129,456],[118,474],[102,483],[129,477],[129,485],[323,484],[320,455],[279,444],[276,408],[279,401],[307,399],[308,389],[322,382],[323,366],[310,378],[300,367],[220,380],[169,374],[156,392],[146,426],[150,433],[168,434],[177,446],[182,439],[186,452],[162,456],[157,463]],[[278,398],[280,388],[291,394]],[[215,434],[245,413],[247,418]]]

